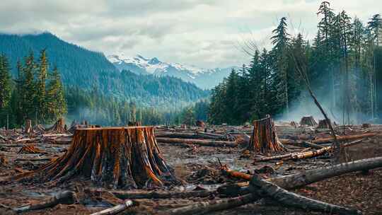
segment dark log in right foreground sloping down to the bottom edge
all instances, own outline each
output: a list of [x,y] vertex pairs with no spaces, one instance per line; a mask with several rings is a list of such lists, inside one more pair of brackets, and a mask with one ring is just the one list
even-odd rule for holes
[[337,206],[320,202],[315,199],[309,199],[293,192],[288,192],[281,187],[274,185],[260,178],[259,175],[253,175],[250,181],[250,192],[253,192],[260,197],[270,197],[273,200],[287,206],[296,207],[304,210],[321,211],[324,213],[334,214],[361,214],[357,209],[349,209],[346,207]]

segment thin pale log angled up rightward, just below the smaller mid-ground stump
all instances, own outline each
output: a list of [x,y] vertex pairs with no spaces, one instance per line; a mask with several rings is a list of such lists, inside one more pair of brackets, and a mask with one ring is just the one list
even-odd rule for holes
[[[350,143],[343,144],[342,147],[354,146],[355,144],[359,144],[362,141],[363,140],[352,141]],[[282,159],[282,160],[286,161],[286,160],[313,158],[313,157],[316,157],[316,156],[321,156],[321,155],[323,155],[325,153],[332,152],[333,149],[334,149],[334,146],[328,146],[328,147],[323,147],[321,149],[314,150],[314,151],[287,153],[287,154],[284,154],[282,156],[271,156],[271,157],[255,158],[255,162],[274,161],[274,160],[279,160],[279,159]]]

